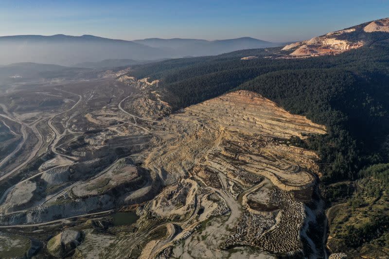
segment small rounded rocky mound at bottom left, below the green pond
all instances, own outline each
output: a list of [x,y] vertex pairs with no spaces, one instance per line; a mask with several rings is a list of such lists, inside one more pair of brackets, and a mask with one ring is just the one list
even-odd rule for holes
[[69,256],[72,250],[81,242],[81,233],[74,230],[64,230],[47,243],[48,252],[58,258]]

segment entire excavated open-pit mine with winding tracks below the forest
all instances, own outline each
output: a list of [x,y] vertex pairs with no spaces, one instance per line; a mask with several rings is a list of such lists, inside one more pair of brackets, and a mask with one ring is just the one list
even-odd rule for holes
[[250,91],[172,112],[115,76],[0,98],[0,258],[323,256],[318,156],[292,139],[324,126]]

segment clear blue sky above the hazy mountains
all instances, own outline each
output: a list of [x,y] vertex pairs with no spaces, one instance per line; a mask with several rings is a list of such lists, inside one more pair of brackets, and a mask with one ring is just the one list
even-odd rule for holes
[[0,0],[0,35],[295,41],[389,17],[389,0]]

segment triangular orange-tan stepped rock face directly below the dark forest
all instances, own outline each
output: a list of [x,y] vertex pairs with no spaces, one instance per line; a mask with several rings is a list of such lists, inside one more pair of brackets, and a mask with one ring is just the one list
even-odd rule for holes
[[292,115],[270,100],[245,90],[192,105],[185,110],[184,115],[206,122],[217,122],[229,131],[262,133],[279,138],[304,138],[302,134],[325,133],[324,126],[303,116]]

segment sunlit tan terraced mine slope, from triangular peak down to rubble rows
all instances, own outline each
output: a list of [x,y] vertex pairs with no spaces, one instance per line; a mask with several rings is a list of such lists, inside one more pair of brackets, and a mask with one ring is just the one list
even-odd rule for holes
[[182,133],[163,141],[144,166],[173,186],[141,209],[138,223],[169,222],[164,225],[179,232],[145,243],[144,258],[224,258],[241,246],[302,256],[304,244],[318,255],[306,231],[320,209],[305,205],[315,189],[318,157],[287,139],[324,134],[323,126],[249,91],[190,106],[161,122]]

